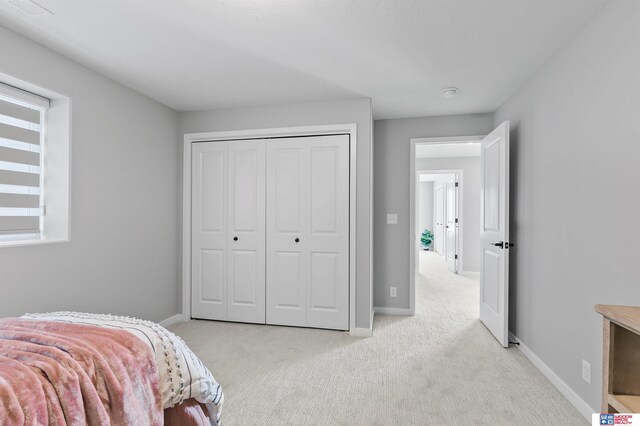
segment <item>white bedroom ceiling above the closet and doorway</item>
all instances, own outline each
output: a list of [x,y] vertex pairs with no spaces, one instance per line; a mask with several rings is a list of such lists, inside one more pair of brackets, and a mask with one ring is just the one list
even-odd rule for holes
[[606,1],[0,0],[0,25],[179,111],[370,97],[381,119],[494,111]]

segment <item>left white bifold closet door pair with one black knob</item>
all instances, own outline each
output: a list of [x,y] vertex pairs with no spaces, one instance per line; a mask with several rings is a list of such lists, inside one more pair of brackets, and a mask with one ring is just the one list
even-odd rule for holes
[[194,318],[265,322],[265,145],[192,149]]

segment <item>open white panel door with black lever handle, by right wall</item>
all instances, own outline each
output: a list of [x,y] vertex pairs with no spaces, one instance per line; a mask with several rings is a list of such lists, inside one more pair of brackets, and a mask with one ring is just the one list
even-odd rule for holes
[[480,320],[509,346],[509,122],[482,140]]

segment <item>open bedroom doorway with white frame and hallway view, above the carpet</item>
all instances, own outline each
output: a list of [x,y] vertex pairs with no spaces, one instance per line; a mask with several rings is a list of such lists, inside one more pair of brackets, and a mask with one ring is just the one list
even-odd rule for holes
[[[452,283],[471,280],[476,288],[479,286],[481,140],[482,136],[411,140],[409,219],[412,229],[415,229],[410,259],[413,309],[416,282],[422,285],[425,279]],[[430,200],[421,199],[425,194],[424,190],[420,193],[420,187],[425,186],[421,180],[433,184]],[[433,212],[430,229],[433,242],[429,250],[422,246],[421,237],[425,230],[417,228],[424,227],[425,215],[420,210],[425,207]],[[427,302],[422,300],[418,303]]]

